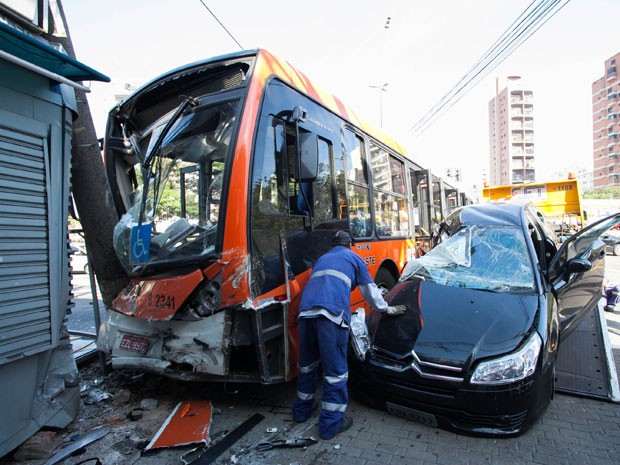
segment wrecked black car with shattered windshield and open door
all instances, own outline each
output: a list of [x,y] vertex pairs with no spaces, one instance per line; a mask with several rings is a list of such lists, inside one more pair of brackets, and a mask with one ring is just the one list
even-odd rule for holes
[[454,211],[386,295],[405,314],[354,314],[353,393],[431,426],[522,433],[553,396],[558,346],[600,300],[600,236],[617,223],[620,214],[558,248],[531,205]]

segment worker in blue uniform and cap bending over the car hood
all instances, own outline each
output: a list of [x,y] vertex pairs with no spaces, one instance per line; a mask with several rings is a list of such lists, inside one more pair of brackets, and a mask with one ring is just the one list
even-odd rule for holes
[[359,287],[364,299],[388,315],[405,312],[404,305],[389,306],[373,282],[364,261],[351,250],[351,235],[338,231],[333,247],[312,269],[299,303],[299,377],[293,419],[306,421],[318,404],[315,390],[319,365],[323,366],[323,399],[319,436],[329,440],[350,428],[344,412],[349,401],[347,345],[351,321],[351,292]]

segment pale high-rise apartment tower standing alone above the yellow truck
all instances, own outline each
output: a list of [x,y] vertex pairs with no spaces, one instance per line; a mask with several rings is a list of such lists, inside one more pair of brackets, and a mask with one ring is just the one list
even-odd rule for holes
[[536,180],[534,93],[520,76],[497,78],[489,101],[489,184],[522,184]]

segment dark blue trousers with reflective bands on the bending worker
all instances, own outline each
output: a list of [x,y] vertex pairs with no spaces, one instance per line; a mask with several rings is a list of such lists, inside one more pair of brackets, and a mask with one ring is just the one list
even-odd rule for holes
[[340,430],[340,420],[349,402],[347,343],[349,328],[323,316],[299,319],[299,377],[293,418],[305,421],[315,404],[319,365],[323,366],[323,401],[319,415],[319,435],[331,439]]

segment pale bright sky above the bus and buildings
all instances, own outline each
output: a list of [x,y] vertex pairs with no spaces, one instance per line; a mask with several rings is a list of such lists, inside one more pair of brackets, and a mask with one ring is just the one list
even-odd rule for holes
[[534,92],[537,180],[592,169],[592,82],[620,52],[618,0],[571,0],[422,133],[414,124],[532,0],[203,2],[225,29],[200,0],[62,0],[77,58],[111,78],[88,94],[99,137],[126,83],[265,48],[381,126],[424,168],[441,177],[460,169],[465,190],[480,189],[488,172],[488,103],[496,78],[510,75]]

